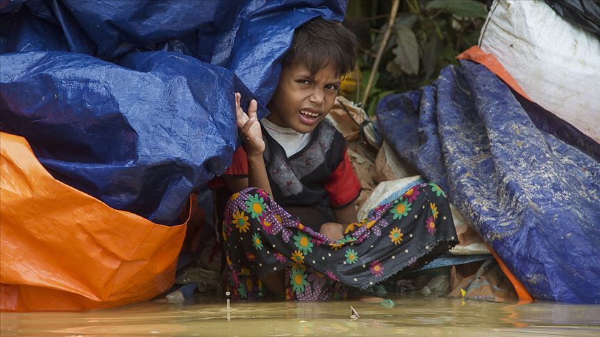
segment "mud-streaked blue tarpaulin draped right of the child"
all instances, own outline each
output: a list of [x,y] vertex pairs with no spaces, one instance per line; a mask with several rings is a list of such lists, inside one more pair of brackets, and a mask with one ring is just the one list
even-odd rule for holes
[[[600,303],[600,164],[538,128],[481,64],[386,96],[378,126],[538,300]],[[595,146],[598,146],[595,144]]]

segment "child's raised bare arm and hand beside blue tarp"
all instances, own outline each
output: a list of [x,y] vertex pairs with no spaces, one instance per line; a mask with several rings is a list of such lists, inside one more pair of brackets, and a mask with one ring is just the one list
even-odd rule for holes
[[263,141],[263,132],[260,130],[260,123],[256,116],[256,101],[250,101],[248,114],[242,110],[240,100],[242,94],[235,93],[235,114],[238,119],[238,130],[244,139],[244,150],[248,157],[248,178],[226,178],[225,182],[232,192],[238,192],[247,187],[256,187],[263,189],[269,196],[273,196],[271,184],[267,178],[267,169],[265,168],[265,141]]

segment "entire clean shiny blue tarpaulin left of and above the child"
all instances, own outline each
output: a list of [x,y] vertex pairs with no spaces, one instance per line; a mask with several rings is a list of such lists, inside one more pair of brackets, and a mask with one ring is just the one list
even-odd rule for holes
[[0,130],[58,180],[156,223],[231,164],[294,29],[345,1],[0,1]]

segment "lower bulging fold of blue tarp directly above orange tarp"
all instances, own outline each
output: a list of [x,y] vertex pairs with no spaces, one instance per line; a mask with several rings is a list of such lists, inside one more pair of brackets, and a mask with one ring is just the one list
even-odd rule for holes
[[[167,225],[231,163],[233,92],[251,96],[228,69],[173,52],[128,53],[119,65],[60,51],[0,62],[12,64],[0,74],[5,132],[28,139],[56,179]],[[205,85],[218,89],[208,96]]]

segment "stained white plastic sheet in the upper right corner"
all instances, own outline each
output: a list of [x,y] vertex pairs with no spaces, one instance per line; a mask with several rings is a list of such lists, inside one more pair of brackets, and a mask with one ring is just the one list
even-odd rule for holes
[[544,109],[600,142],[600,42],[544,1],[494,1],[479,47]]

